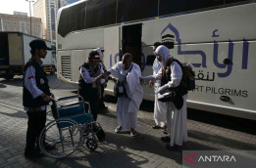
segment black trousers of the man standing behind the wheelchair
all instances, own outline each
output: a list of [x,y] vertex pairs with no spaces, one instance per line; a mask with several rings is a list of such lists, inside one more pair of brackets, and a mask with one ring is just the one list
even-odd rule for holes
[[46,110],[41,111],[26,111],[28,116],[27,131],[26,131],[26,150],[31,150],[38,146],[39,135],[45,126]]

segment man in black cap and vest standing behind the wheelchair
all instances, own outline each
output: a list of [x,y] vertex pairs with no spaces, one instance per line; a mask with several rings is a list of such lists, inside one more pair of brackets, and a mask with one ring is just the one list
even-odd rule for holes
[[[51,101],[48,79],[41,66],[48,48],[44,41],[35,39],[29,43],[31,59],[24,69],[23,105],[28,116],[26,131],[26,157],[40,156],[38,137],[46,122],[46,105]],[[35,147],[36,145],[36,147]]]

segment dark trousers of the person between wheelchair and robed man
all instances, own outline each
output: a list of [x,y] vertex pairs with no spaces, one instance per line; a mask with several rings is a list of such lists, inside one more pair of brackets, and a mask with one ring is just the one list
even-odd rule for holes
[[[78,95],[83,98],[83,101],[88,102],[90,105],[90,111],[93,116],[94,121],[97,120],[98,111],[98,91],[96,88],[81,88],[78,89]],[[85,105],[85,111],[88,111],[88,107]]]

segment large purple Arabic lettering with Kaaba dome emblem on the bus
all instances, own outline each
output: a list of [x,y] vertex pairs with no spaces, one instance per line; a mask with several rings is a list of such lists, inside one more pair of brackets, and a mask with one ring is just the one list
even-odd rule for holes
[[[170,33],[170,31],[173,32],[174,34]],[[167,33],[168,32],[168,33]],[[185,57],[196,57],[200,56],[201,58],[201,63],[191,63],[189,65],[193,67],[202,67],[206,68],[207,59],[212,59],[211,57],[206,57],[206,54],[202,50],[183,50],[182,49],[182,43],[181,39],[179,38],[179,30],[172,24],[169,23],[160,33],[162,37],[162,43],[166,45],[169,49],[173,49],[175,45],[175,41],[177,42],[177,47],[178,47],[178,56],[185,56]],[[220,37],[220,34],[218,34],[218,29],[213,30],[212,34],[213,38]],[[217,75],[218,77],[228,77],[232,71],[232,60],[233,60],[233,42],[229,40],[229,49],[228,49],[228,56],[227,59],[224,61],[220,61],[218,52],[219,52],[219,44],[216,40],[213,40],[213,63],[216,67],[222,68],[222,69],[227,69],[225,72],[218,72]],[[247,69],[248,65],[248,53],[249,53],[249,42],[246,39],[243,39],[243,49],[241,52],[241,69]],[[223,62],[223,63],[221,63]],[[186,64],[186,63],[184,63]],[[201,70],[202,72],[202,70]],[[214,79],[214,73],[213,73],[213,79]],[[210,80],[209,80],[210,81]]]

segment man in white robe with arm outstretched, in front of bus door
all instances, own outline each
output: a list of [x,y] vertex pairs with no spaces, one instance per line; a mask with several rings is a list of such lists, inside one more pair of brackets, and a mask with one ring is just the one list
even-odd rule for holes
[[137,110],[143,99],[143,88],[140,85],[141,71],[136,63],[132,63],[132,56],[125,54],[123,61],[116,63],[109,71],[98,76],[95,80],[106,78],[112,74],[118,81],[126,80],[125,88],[127,95],[118,98],[117,113],[118,113],[118,127],[115,129],[116,133],[121,130],[130,130],[130,136],[135,137],[137,133]]

